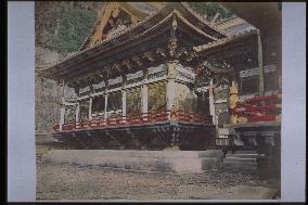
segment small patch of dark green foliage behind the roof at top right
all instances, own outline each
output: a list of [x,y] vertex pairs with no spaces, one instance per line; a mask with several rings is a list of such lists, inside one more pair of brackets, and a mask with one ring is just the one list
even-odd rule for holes
[[202,15],[207,15],[208,18],[214,17],[216,13],[219,13],[222,18],[233,15],[230,11],[222,8],[218,2],[189,2],[189,5],[195,12]]

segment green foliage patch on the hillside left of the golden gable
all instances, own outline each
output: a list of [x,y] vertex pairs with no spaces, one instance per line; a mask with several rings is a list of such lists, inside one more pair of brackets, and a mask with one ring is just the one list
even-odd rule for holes
[[97,12],[81,8],[63,11],[59,33],[52,38],[52,46],[64,52],[77,51],[90,34],[97,20]]

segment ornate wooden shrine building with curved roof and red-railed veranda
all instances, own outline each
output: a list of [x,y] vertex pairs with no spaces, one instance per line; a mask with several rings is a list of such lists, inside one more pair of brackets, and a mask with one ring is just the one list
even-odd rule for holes
[[[221,124],[229,124],[238,112],[229,112],[229,88],[244,94],[264,85],[264,71],[271,73],[260,64],[257,29],[230,36],[185,3],[147,5],[106,3],[80,51],[40,73],[75,90],[69,98],[63,90],[61,120],[53,126],[68,146],[205,150],[221,128],[216,87],[224,84],[228,121]],[[207,78],[195,89],[200,73]]]

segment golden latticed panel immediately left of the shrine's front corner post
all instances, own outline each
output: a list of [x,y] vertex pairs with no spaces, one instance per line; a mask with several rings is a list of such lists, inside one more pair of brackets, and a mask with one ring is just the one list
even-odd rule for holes
[[147,87],[149,112],[162,111],[166,108],[166,82],[150,84]]

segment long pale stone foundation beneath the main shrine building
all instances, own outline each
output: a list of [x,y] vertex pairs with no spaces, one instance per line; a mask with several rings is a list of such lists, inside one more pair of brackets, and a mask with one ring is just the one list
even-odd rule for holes
[[222,151],[52,150],[42,162],[161,172],[203,172],[222,166]]

